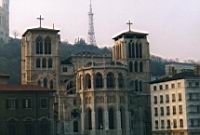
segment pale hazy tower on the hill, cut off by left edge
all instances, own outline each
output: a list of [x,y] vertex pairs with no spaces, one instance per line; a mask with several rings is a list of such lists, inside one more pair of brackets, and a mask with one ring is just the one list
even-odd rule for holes
[[0,0],[0,42],[9,40],[9,0]]

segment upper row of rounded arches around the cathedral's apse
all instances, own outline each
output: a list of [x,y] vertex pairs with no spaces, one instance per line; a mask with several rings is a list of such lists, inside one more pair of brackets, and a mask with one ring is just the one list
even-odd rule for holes
[[122,73],[114,74],[113,72],[108,72],[107,74],[102,74],[97,72],[94,75],[86,73],[84,76],[78,76],[78,90],[125,88],[124,80]]

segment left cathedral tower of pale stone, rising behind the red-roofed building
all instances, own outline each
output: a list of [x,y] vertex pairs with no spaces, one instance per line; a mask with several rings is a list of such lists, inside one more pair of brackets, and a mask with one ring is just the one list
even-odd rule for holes
[[[40,19],[42,19],[40,17]],[[21,43],[21,83],[58,90],[59,30],[28,29]]]

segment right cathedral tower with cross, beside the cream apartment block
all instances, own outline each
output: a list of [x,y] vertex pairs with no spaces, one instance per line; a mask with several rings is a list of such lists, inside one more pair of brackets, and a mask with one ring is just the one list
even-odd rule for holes
[[[113,37],[114,61],[127,65],[131,134],[151,132],[150,114],[150,52],[148,33],[129,29]],[[148,134],[149,135],[149,134]]]

